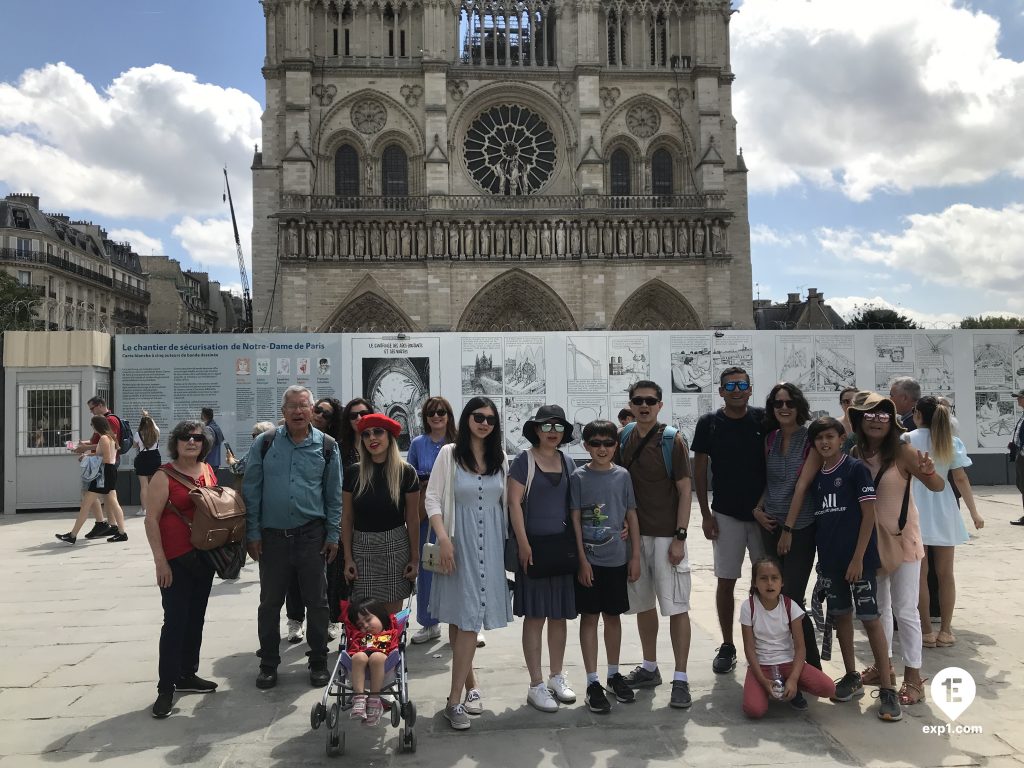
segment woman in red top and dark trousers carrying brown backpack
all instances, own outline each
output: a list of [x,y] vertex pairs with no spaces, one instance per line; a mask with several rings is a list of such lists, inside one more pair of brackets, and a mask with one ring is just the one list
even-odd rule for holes
[[171,714],[175,691],[210,693],[217,689],[216,683],[197,674],[213,566],[191,546],[189,524],[196,509],[188,492],[193,486],[175,476],[175,473],[185,475],[194,485],[216,485],[213,470],[203,462],[207,447],[200,422],[179,422],[167,441],[171,461],[154,474],[147,494],[145,536],[164,608],[157,700],[153,703],[155,718]]

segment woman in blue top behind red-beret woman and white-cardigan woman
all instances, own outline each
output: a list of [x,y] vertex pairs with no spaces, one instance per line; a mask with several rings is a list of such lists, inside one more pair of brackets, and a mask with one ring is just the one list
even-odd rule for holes
[[[437,461],[441,449],[455,442],[455,414],[452,404],[441,396],[434,396],[423,403],[420,412],[423,434],[413,438],[409,445],[409,463],[420,478],[420,570],[416,577],[416,621],[420,624],[412,637],[414,643],[428,643],[437,640],[440,625],[430,615],[430,583],[433,573],[423,567],[423,545],[427,543],[430,521],[427,518],[426,488],[430,481],[430,471]],[[482,636],[481,636],[482,637]]]

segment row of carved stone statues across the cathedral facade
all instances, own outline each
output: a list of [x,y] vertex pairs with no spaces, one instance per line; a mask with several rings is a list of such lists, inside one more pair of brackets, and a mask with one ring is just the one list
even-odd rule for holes
[[422,261],[729,258],[729,214],[279,219],[286,260]]

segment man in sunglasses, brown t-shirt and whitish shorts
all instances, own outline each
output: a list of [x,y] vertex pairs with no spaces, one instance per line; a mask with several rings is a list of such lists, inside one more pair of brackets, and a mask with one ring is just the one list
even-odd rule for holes
[[[670,706],[687,709],[686,662],[690,653],[690,454],[674,427],[658,424],[662,387],[638,381],[630,387],[636,421],[620,433],[617,463],[629,470],[640,522],[640,579],[629,585],[630,613],[636,613],[643,664],[626,676],[632,688],[662,684],[657,669],[658,609],[669,616],[675,674]],[[666,462],[666,458],[669,462]],[[670,466],[671,465],[671,466]],[[655,606],[656,602],[656,606]]]

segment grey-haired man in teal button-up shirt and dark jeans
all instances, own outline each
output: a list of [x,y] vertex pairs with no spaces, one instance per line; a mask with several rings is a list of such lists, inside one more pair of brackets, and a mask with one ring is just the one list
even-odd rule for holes
[[312,407],[305,387],[286,389],[285,424],[257,437],[246,459],[246,538],[249,555],[259,562],[259,688],[278,684],[281,608],[293,575],[306,607],[309,684],[322,687],[330,678],[325,563],[338,556],[341,461],[337,446],[327,447],[324,433],[310,425]]

